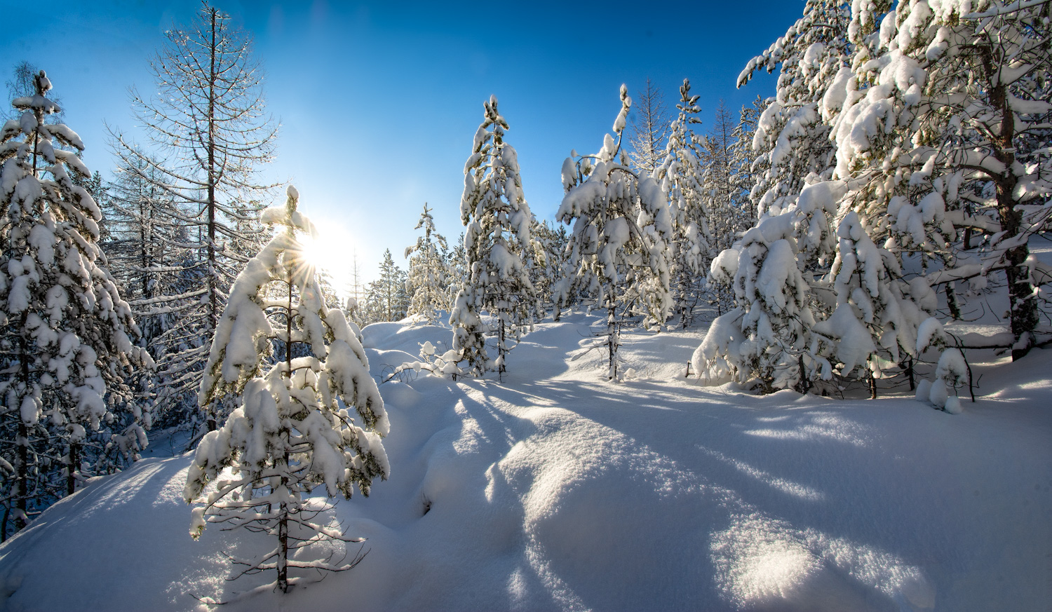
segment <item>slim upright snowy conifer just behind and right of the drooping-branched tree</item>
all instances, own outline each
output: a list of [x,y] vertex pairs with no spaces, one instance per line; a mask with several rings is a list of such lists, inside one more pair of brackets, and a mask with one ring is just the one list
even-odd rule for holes
[[[702,111],[697,105],[699,98],[691,95],[690,81],[684,79],[680,87],[680,102],[675,105],[680,114],[669,128],[665,160],[653,174],[662,189],[668,193],[671,204],[670,246],[673,256],[670,289],[674,313],[680,315],[680,325],[684,328],[693,322],[694,306],[700,300],[708,263],[706,256],[711,250],[711,232],[707,225],[709,216],[702,193],[705,151],[703,143],[690,129],[691,124],[702,122],[695,117]],[[711,260],[711,256],[708,259]]]

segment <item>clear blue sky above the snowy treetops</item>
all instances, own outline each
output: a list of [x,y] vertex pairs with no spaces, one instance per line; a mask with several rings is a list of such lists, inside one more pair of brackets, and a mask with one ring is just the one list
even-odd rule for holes
[[[103,122],[134,130],[127,89],[153,90],[147,62],[196,0],[0,0],[3,81],[27,60],[47,70],[84,140],[85,161],[107,178]],[[450,4],[450,5],[446,5]],[[552,219],[571,148],[594,152],[629,93],[647,77],[671,110],[689,78],[704,109],[773,95],[773,76],[743,89],[746,62],[785,33],[803,0],[754,2],[312,2],[220,1],[255,38],[268,108],[281,122],[266,169],[292,181],[301,209],[335,237],[366,278],[384,248],[403,267],[424,202],[454,240],[464,161],[493,94],[519,151],[526,199]]]

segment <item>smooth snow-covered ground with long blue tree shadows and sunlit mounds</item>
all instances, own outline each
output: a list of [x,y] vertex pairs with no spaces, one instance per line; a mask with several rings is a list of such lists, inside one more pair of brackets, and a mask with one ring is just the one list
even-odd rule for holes
[[[539,325],[503,383],[383,385],[391,477],[336,508],[368,555],[223,609],[985,612],[1052,601],[1050,351],[973,364],[978,402],[951,415],[909,396],[702,387],[683,378],[697,331],[626,334],[636,376],[609,384],[601,355],[578,349],[587,323]],[[369,326],[373,373],[448,334]],[[262,550],[265,536],[210,526],[190,539],[189,461],[144,458],[53,506],[0,547],[0,608],[204,609],[195,595],[232,599],[272,580],[223,579],[223,552]]]

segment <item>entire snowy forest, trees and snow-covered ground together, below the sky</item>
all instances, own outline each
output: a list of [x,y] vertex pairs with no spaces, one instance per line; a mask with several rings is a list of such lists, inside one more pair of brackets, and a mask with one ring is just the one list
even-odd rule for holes
[[[697,81],[611,84],[552,219],[490,96],[459,208],[422,203],[371,272],[322,253],[300,185],[265,178],[296,152],[222,8],[167,30],[136,128],[106,126],[107,178],[62,83],[15,63],[0,607],[1047,603],[1050,17],[808,0],[736,83],[704,85],[777,75],[711,125]],[[119,539],[155,486],[181,559],[143,562],[163,591],[99,578],[90,553],[70,583],[90,596],[45,595],[64,524]],[[639,550],[613,544],[635,529]],[[464,574],[432,568],[433,537]]]

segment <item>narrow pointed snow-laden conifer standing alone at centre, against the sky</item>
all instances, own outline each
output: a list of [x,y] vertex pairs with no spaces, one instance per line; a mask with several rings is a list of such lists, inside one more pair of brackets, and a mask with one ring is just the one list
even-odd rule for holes
[[[507,353],[538,311],[526,260],[533,215],[523,196],[515,149],[504,141],[508,123],[497,109],[497,97],[483,102],[484,119],[464,164],[461,221],[466,228],[464,252],[468,277],[453,302],[453,350],[462,351],[468,370],[505,371]],[[487,326],[480,314],[495,319],[497,358],[485,349]]]

